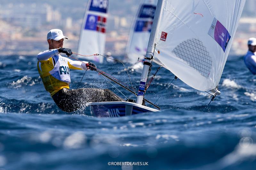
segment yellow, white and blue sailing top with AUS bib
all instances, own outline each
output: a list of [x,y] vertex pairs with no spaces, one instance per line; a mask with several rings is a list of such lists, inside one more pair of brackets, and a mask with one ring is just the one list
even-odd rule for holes
[[85,63],[73,61],[59,54],[58,49],[50,49],[37,55],[37,69],[43,81],[44,88],[53,96],[60,89],[68,88],[70,80],[69,69],[86,70]]

